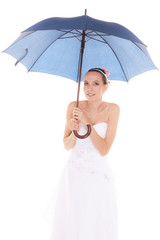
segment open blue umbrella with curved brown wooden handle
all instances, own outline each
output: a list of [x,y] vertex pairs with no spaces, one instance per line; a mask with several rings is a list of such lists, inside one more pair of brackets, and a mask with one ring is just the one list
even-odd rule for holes
[[[29,27],[5,51],[28,72],[43,72],[80,82],[90,68],[110,70],[110,80],[128,82],[143,72],[156,69],[146,45],[124,26],[85,15],[48,18]],[[83,63],[83,65],[82,65]],[[79,138],[89,136],[88,132]]]

